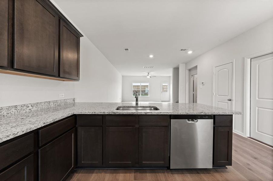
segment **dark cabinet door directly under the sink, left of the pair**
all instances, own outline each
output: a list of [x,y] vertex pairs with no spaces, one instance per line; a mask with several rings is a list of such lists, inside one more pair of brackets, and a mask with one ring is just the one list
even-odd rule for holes
[[134,167],[135,127],[106,127],[105,166]]

